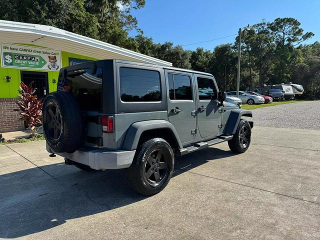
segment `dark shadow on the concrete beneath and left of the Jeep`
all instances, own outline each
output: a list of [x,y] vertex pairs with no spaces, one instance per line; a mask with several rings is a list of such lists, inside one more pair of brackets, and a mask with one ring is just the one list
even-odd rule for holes
[[[233,155],[231,151],[210,147],[182,157],[176,157],[172,177],[209,160],[231,155]],[[53,170],[56,168],[56,171],[58,171],[58,167],[74,167],[58,165],[61,164],[50,164],[41,168],[43,170],[50,169],[50,171],[52,171],[52,168]],[[58,188],[52,190],[50,185],[45,184],[47,193],[3,206],[2,198],[10,197],[6,194],[11,194],[11,197],[25,194],[21,187],[14,186],[14,184],[22,184],[21,181],[23,182],[25,176],[37,176],[38,171],[37,167],[33,167],[0,175],[0,185],[9,179],[19,179],[19,181],[16,181],[17,183],[12,184],[11,189],[5,187],[4,192],[0,191],[0,238],[15,238],[40,232],[61,225],[68,219],[92,215],[147,198],[128,187],[125,179],[125,169],[106,170],[102,174],[101,172],[88,173],[81,170],[72,170],[72,172],[67,173],[67,177],[72,178],[74,174],[83,174],[84,177],[87,174],[96,174],[96,177],[72,185],[66,184],[66,186],[57,182],[58,178],[57,180],[51,179],[54,180],[54,185],[59,186]],[[40,183],[41,179],[38,179],[38,182],[23,182],[30,189],[36,188],[37,184]],[[15,192],[14,189],[16,189]],[[41,190],[43,192],[43,187]]]

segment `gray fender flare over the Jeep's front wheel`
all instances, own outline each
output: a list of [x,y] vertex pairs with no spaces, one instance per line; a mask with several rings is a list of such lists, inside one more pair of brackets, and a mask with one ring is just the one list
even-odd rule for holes
[[[224,128],[224,134],[233,135],[236,131],[236,128],[239,124],[241,116],[252,117],[252,111],[244,110],[241,108],[232,109],[229,115],[229,118],[226,122],[226,127]],[[251,128],[253,127],[253,122],[249,121]]]

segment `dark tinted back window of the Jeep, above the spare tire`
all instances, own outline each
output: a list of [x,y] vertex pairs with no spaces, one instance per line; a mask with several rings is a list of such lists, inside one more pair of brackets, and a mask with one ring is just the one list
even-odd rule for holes
[[102,68],[92,74],[89,68],[68,72],[64,89],[71,88],[83,110],[102,109]]

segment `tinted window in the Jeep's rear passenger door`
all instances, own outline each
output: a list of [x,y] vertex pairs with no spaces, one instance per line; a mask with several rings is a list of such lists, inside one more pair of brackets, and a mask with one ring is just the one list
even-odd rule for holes
[[192,100],[191,79],[187,75],[168,73],[169,99]]

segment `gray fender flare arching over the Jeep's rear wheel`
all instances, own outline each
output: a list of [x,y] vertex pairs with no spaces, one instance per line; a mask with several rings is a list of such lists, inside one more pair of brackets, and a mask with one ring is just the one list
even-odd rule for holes
[[166,120],[147,120],[132,123],[126,131],[121,148],[123,150],[134,150],[136,149],[140,136],[144,131],[163,128],[169,129],[172,132],[179,148],[182,148],[178,133],[174,126]]

